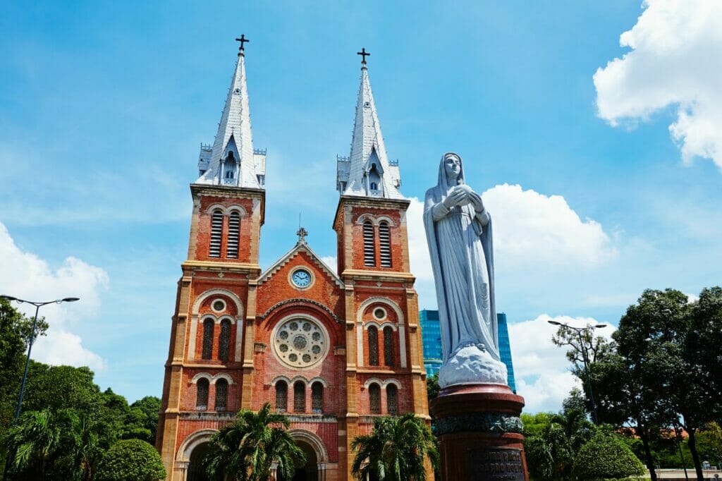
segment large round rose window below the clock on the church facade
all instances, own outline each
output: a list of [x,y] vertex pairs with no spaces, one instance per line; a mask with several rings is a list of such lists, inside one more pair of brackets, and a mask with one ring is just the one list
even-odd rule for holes
[[273,350],[282,363],[308,368],[320,363],[329,352],[326,329],[311,319],[281,321],[272,334]]

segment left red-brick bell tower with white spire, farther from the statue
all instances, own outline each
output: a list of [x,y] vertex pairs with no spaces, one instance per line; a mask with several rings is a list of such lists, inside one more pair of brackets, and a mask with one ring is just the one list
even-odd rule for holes
[[[201,144],[191,183],[188,256],[181,264],[165,364],[157,449],[168,479],[185,479],[176,456],[202,410],[217,427],[251,407],[258,244],[264,224],[266,151],[253,148],[245,36],[212,145]],[[250,319],[251,321],[247,321]],[[250,343],[250,347],[249,347]],[[197,417],[197,415],[196,415]]]

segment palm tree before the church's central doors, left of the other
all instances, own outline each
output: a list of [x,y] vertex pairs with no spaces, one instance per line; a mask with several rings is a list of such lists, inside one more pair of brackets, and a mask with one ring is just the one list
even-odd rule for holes
[[279,474],[293,477],[295,463],[305,462],[305,454],[288,433],[289,426],[288,418],[271,412],[267,402],[258,412],[240,410],[235,423],[211,438],[206,473],[214,481],[266,481],[276,462]]

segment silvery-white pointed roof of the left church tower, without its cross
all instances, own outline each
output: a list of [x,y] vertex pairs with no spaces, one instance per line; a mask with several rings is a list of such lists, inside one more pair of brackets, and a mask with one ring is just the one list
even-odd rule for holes
[[[245,55],[243,49],[238,53],[238,61],[233,71],[228,97],[218,124],[218,132],[213,143],[208,169],[196,183],[219,184],[220,160],[225,158],[229,149],[234,157],[240,158],[240,175],[232,185],[238,187],[261,188],[256,175],[256,163],[253,158],[253,136],[251,135],[251,111],[248,108],[248,88],[245,85]],[[229,185],[225,183],[225,185]]]

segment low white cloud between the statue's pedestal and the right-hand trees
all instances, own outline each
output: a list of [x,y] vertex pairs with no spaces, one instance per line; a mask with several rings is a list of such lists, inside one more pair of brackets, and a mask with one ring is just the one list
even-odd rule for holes
[[[570,389],[578,386],[570,373],[566,349],[552,344],[557,326],[549,324],[549,319],[575,327],[599,324],[591,317],[550,317],[547,314],[531,321],[509,324],[517,392],[525,399],[527,412],[560,410]],[[607,325],[596,329],[596,333],[609,338],[614,330],[614,326]]]

